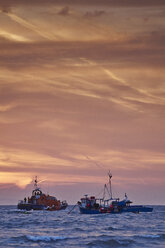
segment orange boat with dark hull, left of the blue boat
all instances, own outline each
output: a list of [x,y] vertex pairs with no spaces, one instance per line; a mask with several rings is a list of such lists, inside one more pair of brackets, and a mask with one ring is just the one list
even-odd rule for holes
[[57,200],[55,196],[44,194],[38,187],[37,177],[34,181],[34,189],[31,197],[24,198],[18,202],[17,208],[21,210],[48,210],[56,211],[66,209],[68,206],[66,201]]

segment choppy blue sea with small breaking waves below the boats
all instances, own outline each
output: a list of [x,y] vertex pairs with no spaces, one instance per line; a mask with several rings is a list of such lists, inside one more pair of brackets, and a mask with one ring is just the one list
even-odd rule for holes
[[165,206],[152,213],[82,215],[0,206],[0,247],[165,248]]

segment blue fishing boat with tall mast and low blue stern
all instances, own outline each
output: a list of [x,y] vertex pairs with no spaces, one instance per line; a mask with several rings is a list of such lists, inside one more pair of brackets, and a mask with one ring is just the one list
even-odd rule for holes
[[[104,213],[124,213],[124,212],[132,212],[132,213],[140,213],[140,212],[152,212],[153,208],[146,207],[143,205],[131,205],[132,201],[130,201],[125,194],[125,198],[120,200],[119,198],[114,198],[112,196],[112,186],[111,186],[111,178],[112,174],[110,171],[108,172],[109,177],[109,187],[107,184],[104,185],[104,192],[102,198],[97,198],[95,196],[85,195],[78,202],[78,206],[81,214],[104,214]],[[108,198],[105,198],[105,193],[108,193]]]

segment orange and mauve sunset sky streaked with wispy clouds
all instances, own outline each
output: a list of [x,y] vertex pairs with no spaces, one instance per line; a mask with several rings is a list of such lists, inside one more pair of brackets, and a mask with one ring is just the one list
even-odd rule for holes
[[164,0],[0,0],[0,204],[165,204]]

